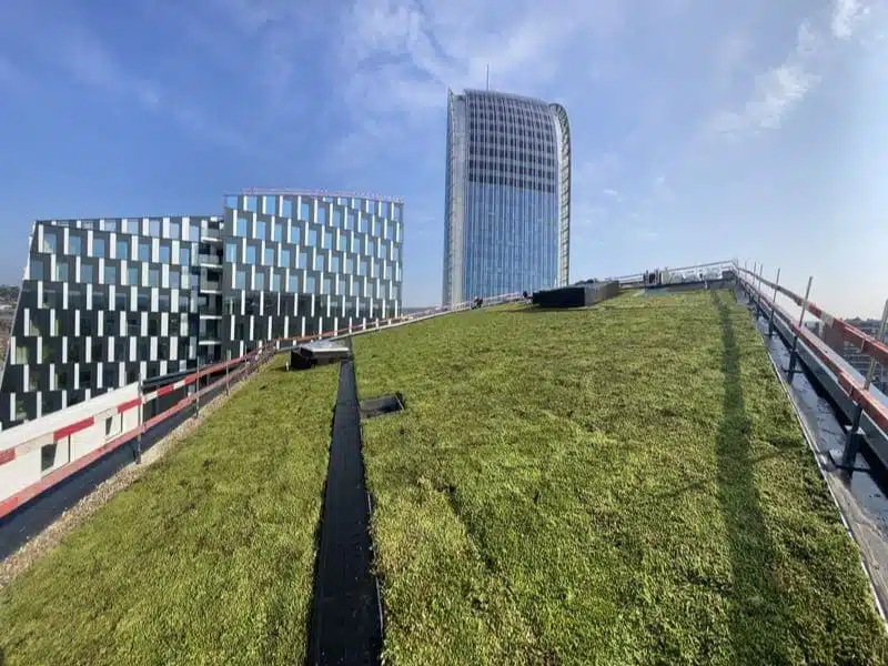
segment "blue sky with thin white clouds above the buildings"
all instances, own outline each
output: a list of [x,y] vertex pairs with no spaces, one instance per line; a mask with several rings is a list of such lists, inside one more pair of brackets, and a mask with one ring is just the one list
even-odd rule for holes
[[838,315],[888,297],[886,0],[29,0],[0,7],[0,282],[32,220],[405,199],[437,302],[446,90],[557,101],[572,279],[739,258]]

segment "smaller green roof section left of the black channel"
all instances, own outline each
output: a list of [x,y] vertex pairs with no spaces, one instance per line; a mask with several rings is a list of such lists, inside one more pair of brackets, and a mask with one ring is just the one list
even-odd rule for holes
[[0,593],[0,664],[304,659],[339,369],[284,361]]

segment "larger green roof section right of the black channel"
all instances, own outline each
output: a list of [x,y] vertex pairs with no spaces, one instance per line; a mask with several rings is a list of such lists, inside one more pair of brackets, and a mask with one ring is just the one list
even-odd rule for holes
[[861,571],[729,292],[354,341],[385,656],[882,664]]

